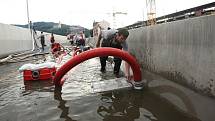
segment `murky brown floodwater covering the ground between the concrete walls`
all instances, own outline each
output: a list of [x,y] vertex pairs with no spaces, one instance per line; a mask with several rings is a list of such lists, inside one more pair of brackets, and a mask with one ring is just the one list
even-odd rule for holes
[[[159,81],[160,77],[156,76],[150,77],[149,87],[141,91],[126,88],[92,93],[92,81],[115,78],[110,65],[106,74],[99,71],[98,58],[85,61],[68,72],[65,75],[68,79],[62,90],[55,88],[50,81],[24,83],[22,74],[17,71],[24,63],[28,62],[0,66],[1,121],[214,121],[215,119],[213,106],[208,106],[214,104],[213,99],[198,95],[184,87],[176,88],[173,83],[163,84],[165,80]],[[205,112],[204,108],[210,113]]]

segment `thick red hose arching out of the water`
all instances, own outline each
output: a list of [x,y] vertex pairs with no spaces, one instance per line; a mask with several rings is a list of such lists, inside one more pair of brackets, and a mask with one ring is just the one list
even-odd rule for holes
[[109,47],[102,47],[102,48],[96,48],[88,51],[84,51],[76,56],[74,56],[72,59],[70,59],[68,62],[66,62],[63,66],[61,66],[58,71],[56,72],[56,75],[54,77],[54,83],[56,86],[62,86],[63,82],[61,81],[62,77],[73,67],[80,64],[81,62],[94,58],[94,57],[101,57],[101,56],[116,56],[121,58],[122,60],[126,61],[130,64],[133,74],[134,74],[134,81],[137,83],[137,86],[141,85],[141,70],[140,66],[137,63],[136,59],[131,56],[128,52],[122,51],[120,49],[116,48],[109,48]]

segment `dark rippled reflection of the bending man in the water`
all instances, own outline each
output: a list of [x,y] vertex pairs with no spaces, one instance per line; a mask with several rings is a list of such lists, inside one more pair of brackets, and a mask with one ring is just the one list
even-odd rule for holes
[[104,102],[97,109],[104,121],[134,121],[140,117],[140,103],[129,94],[113,91],[102,94]]

